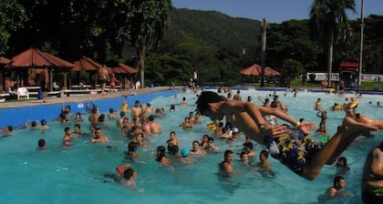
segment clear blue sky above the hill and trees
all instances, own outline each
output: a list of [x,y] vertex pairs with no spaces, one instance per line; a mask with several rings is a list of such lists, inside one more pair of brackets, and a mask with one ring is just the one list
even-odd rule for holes
[[[290,19],[308,19],[314,0],[171,0],[176,8],[218,11],[233,17],[266,19],[280,24]],[[357,14],[347,12],[349,19],[360,18],[362,0],[356,0]],[[383,0],[364,0],[364,16],[383,15]]]

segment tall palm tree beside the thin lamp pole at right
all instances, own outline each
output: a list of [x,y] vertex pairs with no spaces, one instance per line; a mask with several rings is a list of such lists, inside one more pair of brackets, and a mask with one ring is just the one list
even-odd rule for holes
[[335,40],[346,41],[351,36],[346,10],[357,12],[355,0],[314,0],[310,11],[311,36],[327,49],[328,85],[331,86],[333,48]]

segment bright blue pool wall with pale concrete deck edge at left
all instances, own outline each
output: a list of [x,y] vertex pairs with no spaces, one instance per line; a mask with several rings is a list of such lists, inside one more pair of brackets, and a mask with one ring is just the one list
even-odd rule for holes
[[136,100],[147,103],[155,97],[169,97],[179,92],[181,92],[181,87],[173,89],[171,87],[150,87],[109,93],[104,97],[101,97],[100,94],[47,97],[46,103],[42,99],[21,99],[3,102],[0,103],[0,128],[6,126],[21,127],[24,126],[27,120],[57,120],[62,104],[70,106],[72,113],[88,113],[88,102],[95,101],[100,112],[107,112],[109,108],[119,110],[124,100],[128,102],[129,107],[132,107]]

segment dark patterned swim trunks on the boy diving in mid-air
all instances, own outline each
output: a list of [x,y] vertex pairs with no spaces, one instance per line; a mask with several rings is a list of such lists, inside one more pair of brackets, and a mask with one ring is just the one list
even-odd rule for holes
[[285,125],[288,131],[286,136],[280,138],[264,137],[267,148],[276,147],[279,151],[270,151],[273,158],[280,160],[285,166],[292,169],[295,174],[302,175],[306,161],[310,160],[322,148],[322,143],[314,141],[300,129]]

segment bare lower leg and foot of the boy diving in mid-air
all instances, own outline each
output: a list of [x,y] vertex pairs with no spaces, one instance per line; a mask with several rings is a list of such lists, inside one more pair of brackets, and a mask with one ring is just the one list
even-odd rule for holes
[[358,123],[351,117],[345,117],[342,126],[338,130],[335,136],[316,153],[315,157],[307,161],[302,175],[305,179],[316,179],[323,166],[335,162],[336,158],[342,154],[355,138],[367,131],[377,131],[378,128]]

